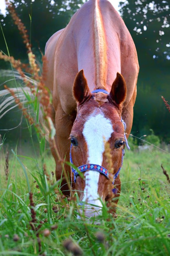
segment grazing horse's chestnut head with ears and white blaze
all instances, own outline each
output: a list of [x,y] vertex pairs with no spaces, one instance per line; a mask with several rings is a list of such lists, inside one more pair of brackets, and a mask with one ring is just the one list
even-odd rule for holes
[[[77,74],[73,95],[77,101],[77,117],[74,121],[71,139],[71,158],[76,167],[92,164],[107,169],[104,154],[105,142],[110,144],[114,173],[121,166],[122,146],[124,145],[124,125],[121,122],[122,103],[126,98],[126,83],[122,75],[112,84],[109,94],[103,92],[91,93],[83,70]],[[85,167],[84,167],[85,168]],[[109,170],[108,170],[109,171]],[[76,177],[76,190],[81,201],[102,206],[108,196],[108,182],[101,173],[88,170],[83,173],[84,179]],[[93,216],[99,207],[85,208],[87,217]]]

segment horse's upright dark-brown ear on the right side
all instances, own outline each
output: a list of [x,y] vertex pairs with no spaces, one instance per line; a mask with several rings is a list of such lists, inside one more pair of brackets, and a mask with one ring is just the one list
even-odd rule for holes
[[123,103],[126,98],[126,82],[120,73],[117,73],[116,79],[112,84],[110,96],[117,105]]

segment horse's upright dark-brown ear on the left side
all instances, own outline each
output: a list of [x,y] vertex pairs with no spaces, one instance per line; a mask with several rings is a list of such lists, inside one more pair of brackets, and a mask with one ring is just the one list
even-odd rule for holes
[[90,96],[90,90],[83,69],[77,73],[74,80],[73,95],[79,103],[83,103]]

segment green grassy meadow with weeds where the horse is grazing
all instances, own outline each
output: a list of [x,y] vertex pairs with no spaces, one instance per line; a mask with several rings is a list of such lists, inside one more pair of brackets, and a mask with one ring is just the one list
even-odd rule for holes
[[118,216],[104,206],[96,225],[77,220],[76,195],[68,201],[51,185],[49,154],[26,158],[14,149],[6,180],[1,151],[0,255],[170,255],[170,188],[161,163],[170,173],[168,153],[126,151]]

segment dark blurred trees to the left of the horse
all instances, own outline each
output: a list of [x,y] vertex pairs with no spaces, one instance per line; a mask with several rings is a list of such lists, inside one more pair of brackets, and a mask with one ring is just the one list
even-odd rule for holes
[[[28,35],[30,35],[30,41],[32,44],[33,52],[36,54],[36,58],[41,58],[40,50],[44,53],[45,44],[47,40],[56,31],[64,28],[72,15],[80,8],[83,4],[82,0],[14,0],[13,1],[18,17],[22,20],[24,25],[28,30]],[[14,24],[11,15],[7,12],[6,17],[0,14],[1,26],[3,28],[3,33],[5,40],[7,42],[10,56],[16,59],[21,59],[22,62],[28,61],[28,56],[26,53],[26,48],[23,43],[22,35],[19,34],[17,26]],[[7,49],[5,41],[3,39],[3,33],[0,29],[0,50],[7,54]],[[0,68],[10,69],[10,64],[4,61],[0,61]],[[8,78],[4,78],[8,80]],[[0,84],[4,82],[3,78],[0,78]],[[8,83],[8,86],[12,86],[12,81]],[[4,89],[3,85],[0,89]],[[1,100],[4,100],[1,99]],[[10,111],[8,114],[3,116],[0,120],[0,129],[10,129],[18,126],[21,120],[21,112]],[[21,133],[22,129],[22,142],[28,143],[28,129],[26,127],[25,121],[22,122],[15,130],[2,131],[0,133],[2,137],[5,134],[7,142],[16,143],[15,134]]]

